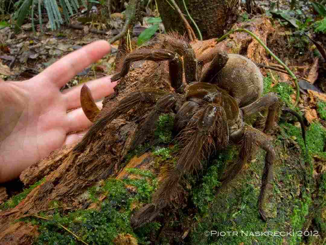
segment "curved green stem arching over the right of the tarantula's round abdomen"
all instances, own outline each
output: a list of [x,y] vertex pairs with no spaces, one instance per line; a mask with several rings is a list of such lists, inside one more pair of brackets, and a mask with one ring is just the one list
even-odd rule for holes
[[248,33],[250,36],[252,36],[254,39],[256,39],[259,44],[261,46],[264,47],[264,49],[278,62],[280,63],[284,69],[289,73],[290,77],[294,80],[294,84],[295,84],[295,87],[296,87],[296,90],[297,90],[297,95],[296,95],[296,98],[295,98],[295,102],[294,102],[294,105],[293,106],[297,106],[298,103],[299,103],[299,98],[300,98],[300,88],[299,88],[299,84],[298,84],[298,79],[296,78],[296,76],[292,73],[292,71],[289,69],[289,67],[287,67],[286,64],[284,64],[276,55],[274,55],[274,53],[269,49],[267,48],[267,46],[255,35],[253,34],[251,31],[248,31],[246,29],[243,29],[243,28],[239,28],[239,29],[235,29],[235,30],[231,30],[229,31],[227,34],[223,35],[222,37],[220,37],[216,42],[220,42],[222,41],[223,39],[225,39],[226,37],[228,37],[230,34],[232,34],[233,32],[246,32]]

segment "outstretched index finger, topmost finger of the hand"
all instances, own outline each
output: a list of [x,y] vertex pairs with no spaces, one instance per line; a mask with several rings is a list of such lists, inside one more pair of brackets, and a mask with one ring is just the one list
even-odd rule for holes
[[61,58],[34,77],[37,81],[54,83],[58,88],[65,85],[77,73],[111,52],[111,45],[104,40],[92,42]]

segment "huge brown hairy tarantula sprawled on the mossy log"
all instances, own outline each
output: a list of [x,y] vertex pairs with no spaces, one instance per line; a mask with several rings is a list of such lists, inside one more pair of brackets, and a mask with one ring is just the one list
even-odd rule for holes
[[[174,133],[180,147],[176,153],[176,165],[162,170],[165,178],[153,196],[153,204],[146,205],[134,215],[133,225],[140,226],[143,222],[153,220],[162,208],[171,202],[178,202],[180,178],[198,172],[202,168],[202,160],[215,149],[225,148],[230,142],[240,144],[241,150],[237,162],[222,179],[224,185],[241,171],[256,145],[267,152],[258,199],[259,213],[265,220],[262,204],[266,187],[272,179],[275,153],[268,137],[244,123],[244,118],[268,108],[264,131],[271,129],[278,99],[274,93],[260,97],[263,79],[257,66],[243,56],[222,54],[216,49],[196,57],[194,50],[183,38],[164,35],[159,49],[142,48],[126,55],[121,71],[113,75],[111,81],[125,76],[130,63],[138,60],[168,60],[170,84],[175,92],[152,88],[132,92],[94,123],[74,151],[82,151],[93,134],[119,115],[127,113],[140,103],[151,103],[153,107],[139,125],[130,149],[143,143],[146,136],[154,130],[159,115],[169,111],[176,113]],[[94,120],[91,112],[97,110],[87,87],[83,87],[82,97],[85,100],[82,101],[85,114]]]

